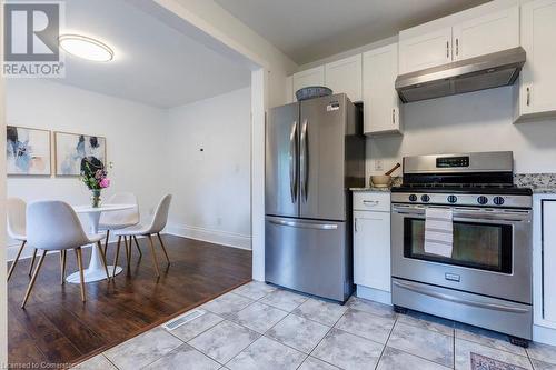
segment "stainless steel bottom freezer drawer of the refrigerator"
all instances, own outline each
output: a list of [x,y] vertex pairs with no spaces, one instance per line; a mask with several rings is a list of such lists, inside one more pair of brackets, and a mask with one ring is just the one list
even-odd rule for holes
[[266,281],[337,301],[353,287],[345,222],[267,217]]

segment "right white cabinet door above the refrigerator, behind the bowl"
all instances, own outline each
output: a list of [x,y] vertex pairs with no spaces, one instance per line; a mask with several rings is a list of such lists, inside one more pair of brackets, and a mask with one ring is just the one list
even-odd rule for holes
[[361,54],[325,64],[325,86],[334,93],[345,92],[353,102],[361,101]]

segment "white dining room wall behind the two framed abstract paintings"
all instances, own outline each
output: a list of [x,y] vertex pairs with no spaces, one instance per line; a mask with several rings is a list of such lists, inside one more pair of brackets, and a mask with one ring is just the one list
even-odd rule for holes
[[[6,102],[8,124],[106,137],[107,160],[113,168],[109,170],[112,186],[103,191],[105,200],[117,191],[135,192],[141,214],[148,218],[169,190],[160,172],[166,110],[39,79],[8,80]],[[9,197],[27,201],[90,201],[90,192],[75,177],[9,177],[7,191]],[[10,248],[9,254],[14,251]]]

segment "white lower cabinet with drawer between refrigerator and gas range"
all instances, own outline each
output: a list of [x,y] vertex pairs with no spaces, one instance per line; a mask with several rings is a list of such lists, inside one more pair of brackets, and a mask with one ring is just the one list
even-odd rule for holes
[[[356,193],[361,197],[361,193]],[[375,199],[374,196],[380,196]],[[384,193],[364,193],[369,202],[384,201]],[[389,198],[389,194],[388,194]],[[390,291],[390,211],[354,211],[354,282]]]

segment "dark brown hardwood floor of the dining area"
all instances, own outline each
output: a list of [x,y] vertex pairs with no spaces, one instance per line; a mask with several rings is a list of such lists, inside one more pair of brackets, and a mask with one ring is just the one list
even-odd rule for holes
[[[47,256],[22,310],[30,259],[20,261],[8,284],[9,361],[79,362],[251,280],[250,251],[172,236],[162,238],[171,264],[166,264],[157,248],[158,281],[147,241],[139,239],[142,258],[133,248],[131,274],[126,273],[122,248],[122,273],[110,284],[106,280],[87,283],[85,303],[79,284],[60,284],[59,254],[52,253]],[[109,246],[109,264],[115,247]],[[86,266],[89,256],[90,248],[83,249]],[[73,271],[77,262],[69,251],[67,274]]]

